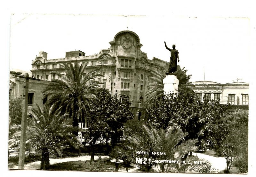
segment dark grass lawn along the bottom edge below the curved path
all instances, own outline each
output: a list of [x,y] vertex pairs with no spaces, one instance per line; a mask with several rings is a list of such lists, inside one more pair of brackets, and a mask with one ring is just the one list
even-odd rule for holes
[[[96,170],[92,170],[92,167],[96,167]],[[106,160],[101,169],[98,169],[99,162],[92,162],[90,165],[90,161],[70,161],[63,162],[58,164],[53,164],[50,166],[50,170],[63,170],[63,171],[102,171],[102,172],[114,172],[116,167],[113,162],[110,160]],[[128,167],[128,170],[134,168],[133,166]],[[95,168],[94,168],[95,169]],[[120,172],[126,172],[124,166],[119,165]]]

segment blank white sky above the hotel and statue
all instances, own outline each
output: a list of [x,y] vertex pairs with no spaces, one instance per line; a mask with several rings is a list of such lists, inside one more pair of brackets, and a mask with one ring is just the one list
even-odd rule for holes
[[74,50],[99,53],[123,30],[138,34],[148,59],[169,62],[164,41],[169,48],[175,44],[190,81],[250,82],[250,19],[234,17],[13,14],[10,68],[29,71],[40,51],[48,59]]

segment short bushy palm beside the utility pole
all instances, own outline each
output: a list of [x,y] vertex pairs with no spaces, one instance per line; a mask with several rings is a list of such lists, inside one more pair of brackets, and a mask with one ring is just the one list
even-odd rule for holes
[[[49,107],[45,105],[40,108],[31,110],[32,117],[27,118],[27,140],[26,147],[35,147],[41,152],[40,169],[49,169],[50,153],[55,152],[61,156],[62,145],[70,145],[74,148],[78,147],[77,138],[72,133],[77,131],[78,127],[73,127],[73,120],[62,115],[60,108],[56,109],[56,105]],[[10,148],[20,144],[21,124],[14,124],[11,129],[16,130],[12,139],[9,140]]]

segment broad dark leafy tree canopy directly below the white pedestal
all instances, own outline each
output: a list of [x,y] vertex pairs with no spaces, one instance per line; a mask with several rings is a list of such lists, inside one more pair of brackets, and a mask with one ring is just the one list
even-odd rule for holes
[[172,126],[188,132],[188,138],[208,141],[212,137],[215,124],[225,125],[223,117],[226,114],[227,106],[220,105],[218,101],[204,96],[201,102],[194,93],[181,92],[170,99],[162,94],[161,99],[146,109],[144,121],[157,130]]

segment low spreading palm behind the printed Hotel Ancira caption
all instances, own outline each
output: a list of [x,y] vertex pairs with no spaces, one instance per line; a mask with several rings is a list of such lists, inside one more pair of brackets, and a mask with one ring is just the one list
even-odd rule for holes
[[[195,152],[197,150],[196,143],[197,139],[188,139],[184,141],[184,138],[188,135],[187,132],[182,132],[181,129],[173,129],[172,127],[167,127],[166,130],[160,129],[156,130],[152,126],[143,125],[143,130],[146,132],[134,134],[132,137],[128,138],[128,147],[133,151],[138,151],[141,148],[145,148],[150,144],[152,152],[165,152],[164,155],[149,157],[154,159],[166,159],[166,160],[176,160],[178,163],[156,163],[153,169],[157,172],[199,172],[204,167],[208,165],[208,162],[204,159],[198,159],[197,157],[190,158],[190,161],[201,161],[202,164],[190,164],[183,163],[187,159],[188,152]],[[145,136],[146,135],[146,136]],[[151,159],[151,160],[152,160]],[[142,165],[139,164],[139,167]]]

